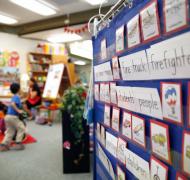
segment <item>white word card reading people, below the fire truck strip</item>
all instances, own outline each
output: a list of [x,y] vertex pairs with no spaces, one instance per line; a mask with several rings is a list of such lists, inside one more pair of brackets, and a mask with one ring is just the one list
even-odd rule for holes
[[117,86],[118,106],[162,119],[162,108],[156,88]]

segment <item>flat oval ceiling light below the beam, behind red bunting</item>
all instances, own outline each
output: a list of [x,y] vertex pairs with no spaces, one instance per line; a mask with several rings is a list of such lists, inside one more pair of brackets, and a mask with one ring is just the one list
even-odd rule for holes
[[47,40],[52,43],[65,43],[81,40],[82,37],[78,34],[62,33],[57,35],[52,35]]

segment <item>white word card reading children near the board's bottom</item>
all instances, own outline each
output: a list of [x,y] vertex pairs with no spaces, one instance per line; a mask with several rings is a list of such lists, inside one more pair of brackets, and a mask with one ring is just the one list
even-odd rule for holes
[[126,168],[140,180],[150,180],[149,163],[125,148]]

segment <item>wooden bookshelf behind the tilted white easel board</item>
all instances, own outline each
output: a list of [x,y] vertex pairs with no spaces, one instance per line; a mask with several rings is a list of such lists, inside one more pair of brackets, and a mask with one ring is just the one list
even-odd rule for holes
[[76,82],[77,75],[75,74],[75,65],[68,63],[68,58],[64,55],[51,55],[35,52],[30,52],[28,54],[28,71],[30,76],[36,79],[42,92],[45,87],[49,66],[51,64],[59,63],[63,63],[65,65],[59,88],[59,94],[62,96],[64,90],[69,86],[74,85]]

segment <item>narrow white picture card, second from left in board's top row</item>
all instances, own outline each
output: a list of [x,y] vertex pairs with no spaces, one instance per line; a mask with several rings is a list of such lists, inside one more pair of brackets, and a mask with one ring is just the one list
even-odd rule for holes
[[124,25],[116,29],[116,53],[124,50]]

